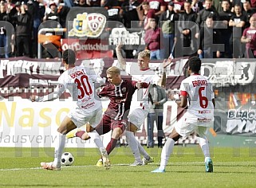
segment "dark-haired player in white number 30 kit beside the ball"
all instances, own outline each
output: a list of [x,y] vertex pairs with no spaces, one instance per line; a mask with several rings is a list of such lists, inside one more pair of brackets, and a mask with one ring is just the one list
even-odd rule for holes
[[[30,100],[44,102],[55,100],[61,96],[66,89],[73,98],[76,107],[71,110],[68,116],[61,122],[57,128],[58,140],[55,147],[54,161],[50,163],[41,163],[43,169],[61,170],[61,155],[65,147],[65,135],[77,127],[89,122],[92,126],[100,123],[102,116],[102,106],[99,98],[94,92],[95,83],[104,84],[104,80],[93,71],[84,66],[76,66],[76,54],[72,49],[66,49],[62,55],[62,63],[65,65],[65,72],[58,79],[57,91],[42,97],[30,96]],[[103,155],[105,168],[109,168],[109,160],[100,135],[96,135],[94,142],[100,148]]]

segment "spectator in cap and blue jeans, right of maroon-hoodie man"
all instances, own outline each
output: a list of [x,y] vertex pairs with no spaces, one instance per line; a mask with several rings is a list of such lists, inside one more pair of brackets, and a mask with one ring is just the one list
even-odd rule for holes
[[163,57],[168,58],[174,45],[175,21],[179,21],[179,14],[174,11],[174,3],[169,2],[167,10],[160,15],[160,28],[163,33]]

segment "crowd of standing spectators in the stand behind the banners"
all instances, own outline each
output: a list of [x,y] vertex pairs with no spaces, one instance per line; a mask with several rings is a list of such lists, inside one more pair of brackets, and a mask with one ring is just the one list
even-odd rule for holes
[[37,57],[39,25],[50,20],[56,21],[51,27],[65,28],[73,6],[104,7],[109,21],[144,29],[152,59],[256,55],[255,0],[6,0],[0,3],[0,21],[14,31],[0,24],[1,57]]

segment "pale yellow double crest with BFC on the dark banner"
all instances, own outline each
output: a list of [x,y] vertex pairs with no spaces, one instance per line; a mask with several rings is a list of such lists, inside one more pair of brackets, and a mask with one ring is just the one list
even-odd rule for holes
[[106,24],[106,17],[99,13],[77,14],[69,37],[99,37]]

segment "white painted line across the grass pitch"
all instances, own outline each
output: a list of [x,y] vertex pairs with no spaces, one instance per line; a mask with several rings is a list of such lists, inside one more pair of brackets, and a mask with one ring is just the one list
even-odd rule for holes
[[[151,163],[154,165],[159,165],[159,163]],[[179,164],[203,164],[203,162],[191,162],[191,163],[171,163],[173,165]],[[112,164],[111,166],[129,166],[130,163],[123,164]],[[84,167],[93,167],[96,165],[86,165],[86,166],[61,166],[61,168],[84,168]],[[131,166],[132,167],[132,166]],[[16,171],[16,170],[43,170],[41,167],[33,167],[33,168],[10,168],[10,169],[0,169],[0,171]]]

